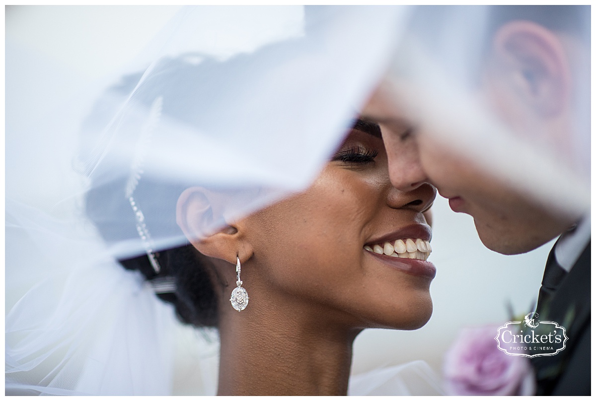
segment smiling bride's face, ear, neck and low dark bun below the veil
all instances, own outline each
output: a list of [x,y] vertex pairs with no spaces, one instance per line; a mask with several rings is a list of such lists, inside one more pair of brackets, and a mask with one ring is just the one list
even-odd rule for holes
[[[181,320],[219,329],[218,394],[345,395],[362,329],[424,325],[435,269],[423,213],[434,196],[429,184],[391,186],[380,130],[361,121],[305,192],[213,234],[200,222],[218,196],[182,192],[176,217],[190,245],[157,261]],[[154,275],[144,259],[138,268]]]

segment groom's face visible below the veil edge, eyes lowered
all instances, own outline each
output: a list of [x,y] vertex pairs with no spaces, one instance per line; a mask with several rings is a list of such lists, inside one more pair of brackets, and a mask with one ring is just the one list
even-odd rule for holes
[[387,121],[380,126],[393,186],[407,190],[412,182],[433,184],[449,199],[452,210],[474,218],[480,240],[489,249],[524,253],[570,225],[432,136],[409,131],[403,123]]

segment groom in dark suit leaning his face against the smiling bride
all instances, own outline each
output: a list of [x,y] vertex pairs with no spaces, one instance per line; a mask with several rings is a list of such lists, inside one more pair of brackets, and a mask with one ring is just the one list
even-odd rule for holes
[[[491,49],[482,56],[488,62],[479,63],[484,78],[480,89],[495,114],[517,135],[538,132],[541,137],[533,141],[560,144],[562,152],[572,143],[572,133],[578,135],[577,113],[589,108],[589,91],[587,97],[579,93],[590,83],[589,42],[573,29],[589,13],[589,6],[492,8],[496,25],[488,42]],[[561,28],[565,20],[572,30]],[[379,86],[361,114],[381,126],[393,186],[410,190],[423,182],[434,184],[449,199],[451,209],[474,218],[482,243],[502,254],[525,253],[559,237],[548,257],[537,312],[539,320],[566,325],[569,340],[557,355],[531,359],[537,394],[589,395],[589,213],[557,214],[452,153],[424,130],[409,133],[395,96]],[[589,124],[580,135],[589,138]],[[589,157],[583,164],[589,168]]]

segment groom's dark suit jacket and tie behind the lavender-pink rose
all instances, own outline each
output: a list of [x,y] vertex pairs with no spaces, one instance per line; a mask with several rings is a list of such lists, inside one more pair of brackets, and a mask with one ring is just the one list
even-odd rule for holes
[[557,288],[552,300],[538,311],[539,320],[554,321],[566,328],[563,351],[537,356],[531,362],[536,371],[536,395],[590,395],[591,334],[591,250],[590,243]]

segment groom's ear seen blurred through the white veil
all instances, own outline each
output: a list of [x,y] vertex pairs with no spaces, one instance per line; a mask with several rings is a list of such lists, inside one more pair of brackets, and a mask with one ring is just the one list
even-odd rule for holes
[[511,21],[493,36],[493,89],[503,107],[523,107],[540,118],[558,116],[570,102],[572,77],[561,39],[530,21]]

